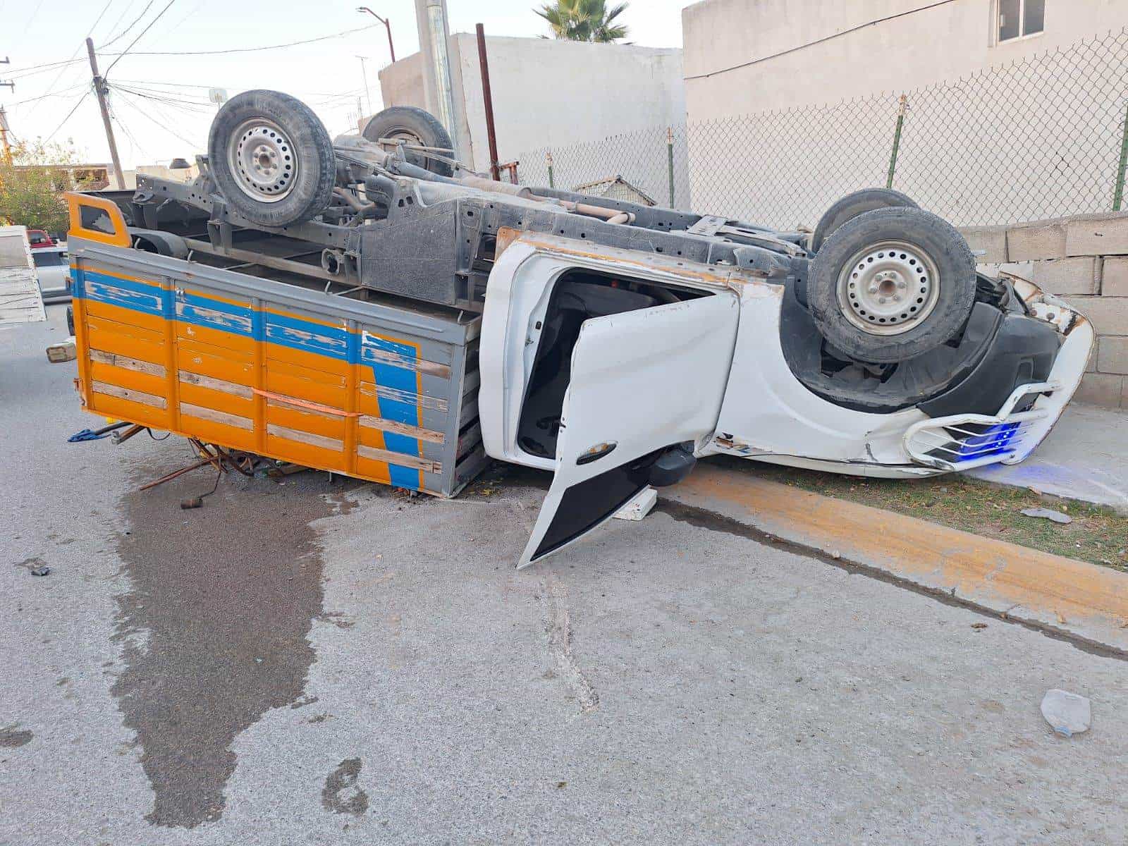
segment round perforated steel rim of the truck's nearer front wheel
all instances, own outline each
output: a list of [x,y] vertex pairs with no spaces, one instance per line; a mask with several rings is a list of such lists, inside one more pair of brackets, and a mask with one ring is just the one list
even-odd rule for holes
[[843,316],[870,335],[900,335],[928,318],[940,299],[940,271],[906,241],[860,249],[838,274]]

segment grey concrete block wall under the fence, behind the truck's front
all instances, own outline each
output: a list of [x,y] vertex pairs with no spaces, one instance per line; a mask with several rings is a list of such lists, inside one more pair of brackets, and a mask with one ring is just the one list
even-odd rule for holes
[[1092,321],[1096,344],[1075,399],[1128,413],[1128,213],[960,231],[980,270],[1029,279]]

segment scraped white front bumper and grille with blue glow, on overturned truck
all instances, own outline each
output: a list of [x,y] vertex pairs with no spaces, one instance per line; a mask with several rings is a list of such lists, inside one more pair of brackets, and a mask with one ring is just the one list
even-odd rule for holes
[[1030,314],[1052,323],[1065,338],[1049,377],[1015,388],[996,414],[953,414],[914,423],[902,446],[915,464],[938,470],[1017,464],[1046,439],[1081,384],[1093,349],[1092,324],[1031,282],[1011,281]]

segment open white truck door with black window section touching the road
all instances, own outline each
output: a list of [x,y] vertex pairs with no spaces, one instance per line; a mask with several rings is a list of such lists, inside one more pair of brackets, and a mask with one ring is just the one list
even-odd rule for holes
[[691,469],[716,425],[737,334],[731,292],[584,321],[572,352],[556,475],[518,566]]

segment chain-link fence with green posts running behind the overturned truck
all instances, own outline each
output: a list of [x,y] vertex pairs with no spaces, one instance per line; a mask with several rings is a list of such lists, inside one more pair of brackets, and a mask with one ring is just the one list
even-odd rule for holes
[[1128,29],[904,94],[541,148],[520,177],[618,176],[660,205],[778,228],[873,185],[959,226],[1119,211],[1126,109]]

